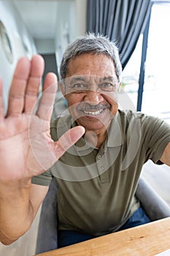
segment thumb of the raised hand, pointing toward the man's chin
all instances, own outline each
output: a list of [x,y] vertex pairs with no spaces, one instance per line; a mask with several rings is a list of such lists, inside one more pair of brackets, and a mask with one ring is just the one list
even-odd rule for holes
[[74,127],[64,133],[61,138],[55,143],[55,156],[59,159],[77,140],[85,133],[84,127]]

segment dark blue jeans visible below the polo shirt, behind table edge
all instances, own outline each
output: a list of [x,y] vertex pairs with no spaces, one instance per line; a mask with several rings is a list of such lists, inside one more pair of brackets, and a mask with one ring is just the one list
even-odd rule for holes
[[[128,219],[125,224],[120,227],[119,230],[125,230],[130,227],[136,227],[142,224],[146,224],[150,222],[149,217],[144,213],[142,207],[134,212],[134,214]],[[85,233],[80,233],[74,230],[58,230],[58,248],[68,246],[71,244],[77,244],[82,241],[89,240],[91,238],[95,238],[95,236],[91,236]]]

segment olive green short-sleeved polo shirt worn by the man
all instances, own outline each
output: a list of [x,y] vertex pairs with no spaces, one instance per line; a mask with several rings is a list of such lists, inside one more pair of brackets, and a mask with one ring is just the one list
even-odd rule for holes
[[[76,123],[63,116],[51,124],[53,140]],[[139,208],[134,196],[144,162],[158,162],[170,141],[163,120],[119,110],[101,148],[85,137],[69,148],[34,184],[58,184],[58,229],[101,236],[118,230]]]

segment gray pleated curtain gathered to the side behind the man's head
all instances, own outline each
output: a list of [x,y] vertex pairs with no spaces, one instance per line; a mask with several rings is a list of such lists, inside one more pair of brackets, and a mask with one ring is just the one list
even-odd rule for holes
[[150,17],[151,0],[88,0],[87,31],[116,42],[123,68]]

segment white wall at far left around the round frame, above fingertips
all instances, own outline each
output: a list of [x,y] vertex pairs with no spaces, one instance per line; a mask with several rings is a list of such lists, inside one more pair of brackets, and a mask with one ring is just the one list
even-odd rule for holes
[[[26,25],[21,20],[20,15],[15,9],[12,1],[0,1],[0,20],[7,29],[7,34],[12,46],[13,60],[10,63],[4,53],[4,48],[0,38],[0,77],[4,84],[4,108],[7,109],[7,99],[9,86],[15,65],[20,56],[30,58],[36,53],[34,39],[31,37]],[[26,52],[24,45],[28,51]]]

